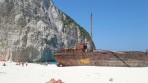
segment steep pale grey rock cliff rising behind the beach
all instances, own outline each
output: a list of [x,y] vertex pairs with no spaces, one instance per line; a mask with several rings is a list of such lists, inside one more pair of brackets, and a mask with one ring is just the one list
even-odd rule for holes
[[1,59],[49,61],[59,49],[75,48],[89,38],[51,0],[0,0]]

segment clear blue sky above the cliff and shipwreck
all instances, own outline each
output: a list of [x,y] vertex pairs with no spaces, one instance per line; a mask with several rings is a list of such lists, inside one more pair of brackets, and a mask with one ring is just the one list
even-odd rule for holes
[[148,0],[53,0],[55,6],[90,32],[96,49],[148,49]]

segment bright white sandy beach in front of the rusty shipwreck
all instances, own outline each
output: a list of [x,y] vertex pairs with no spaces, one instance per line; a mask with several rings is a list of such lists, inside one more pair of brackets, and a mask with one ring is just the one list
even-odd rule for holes
[[49,83],[51,79],[64,83],[148,83],[148,67],[57,67],[56,64],[41,65],[0,62],[0,83]]

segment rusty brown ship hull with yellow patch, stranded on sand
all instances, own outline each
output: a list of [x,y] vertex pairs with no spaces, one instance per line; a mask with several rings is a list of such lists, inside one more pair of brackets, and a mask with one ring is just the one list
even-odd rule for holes
[[145,52],[62,52],[55,59],[58,66],[148,67]]

